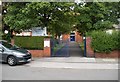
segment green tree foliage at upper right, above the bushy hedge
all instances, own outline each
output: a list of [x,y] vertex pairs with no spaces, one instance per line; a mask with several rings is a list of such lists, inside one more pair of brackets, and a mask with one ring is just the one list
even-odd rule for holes
[[[116,24],[120,16],[119,3],[89,2],[75,6],[77,16],[76,28],[82,34],[93,30],[105,30]],[[102,22],[103,21],[103,22]]]

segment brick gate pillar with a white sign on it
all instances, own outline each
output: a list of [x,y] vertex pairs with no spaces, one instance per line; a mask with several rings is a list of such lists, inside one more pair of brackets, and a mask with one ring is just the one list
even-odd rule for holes
[[51,45],[50,45],[50,38],[44,39],[44,57],[51,56]]

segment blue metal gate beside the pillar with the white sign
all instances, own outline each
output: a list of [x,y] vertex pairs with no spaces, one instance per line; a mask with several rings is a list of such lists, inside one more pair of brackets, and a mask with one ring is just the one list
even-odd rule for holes
[[69,40],[51,39],[51,57],[69,57]]

